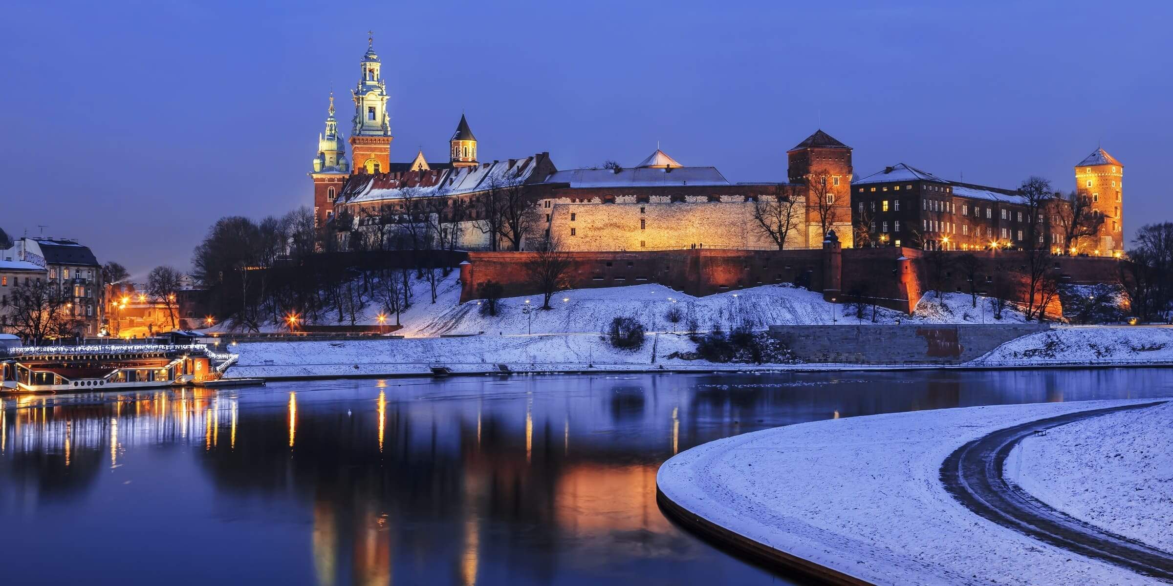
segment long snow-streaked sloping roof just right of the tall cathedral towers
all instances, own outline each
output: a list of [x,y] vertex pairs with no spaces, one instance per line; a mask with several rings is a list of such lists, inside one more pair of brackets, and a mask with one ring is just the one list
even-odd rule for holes
[[537,168],[537,156],[535,155],[455,169],[355,175],[346,182],[339,200],[353,204],[400,199],[405,195],[412,197],[459,196],[482,191],[491,185],[538,183],[544,177],[534,176]]

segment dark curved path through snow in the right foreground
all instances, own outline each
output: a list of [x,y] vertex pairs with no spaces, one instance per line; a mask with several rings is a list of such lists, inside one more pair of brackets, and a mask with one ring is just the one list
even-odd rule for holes
[[1082,556],[1173,580],[1173,556],[1055,510],[1003,477],[1010,451],[1032,434],[1086,417],[1160,403],[1071,413],[1001,429],[954,451],[941,465],[941,482],[958,502],[994,523]]

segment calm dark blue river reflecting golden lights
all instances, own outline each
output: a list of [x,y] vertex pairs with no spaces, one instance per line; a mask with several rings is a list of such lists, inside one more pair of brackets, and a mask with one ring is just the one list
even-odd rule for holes
[[1120,369],[7,397],[0,582],[789,584],[666,520],[658,465],[805,421],[1171,395],[1168,370]]

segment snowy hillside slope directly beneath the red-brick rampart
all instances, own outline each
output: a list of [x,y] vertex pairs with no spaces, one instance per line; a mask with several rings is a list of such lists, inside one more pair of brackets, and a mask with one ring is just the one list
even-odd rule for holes
[[[446,277],[438,287],[436,302],[427,282],[413,280],[412,306],[400,315],[404,328],[396,334],[408,338],[432,338],[442,334],[551,334],[597,333],[613,318],[633,316],[645,328],[653,332],[684,332],[694,322],[700,331],[714,327],[728,331],[743,323],[754,328],[772,325],[818,323],[872,323],[872,308],[867,307],[862,320],[855,307],[823,301],[821,293],[791,286],[764,285],[714,295],[696,298],[663,285],[646,284],[625,287],[602,287],[558,292],[551,300],[551,309],[538,309],[542,295],[506,298],[499,301],[497,315],[483,315],[477,301],[460,304],[459,273]],[[528,304],[526,301],[529,301]],[[913,315],[876,308],[876,323],[1021,323],[1023,315],[1006,308],[1002,320],[995,320],[989,300],[978,297],[978,307],[972,307],[970,295],[944,293],[936,299],[931,293],[917,304]],[[669,319],[670,312],[679,312],[677,321]],[[357,320],[359,325],[378,323],[382,306],[371,302]],[[527,313],[528,312],[528,313]],[[326,315],[328,323],[337,321],[337,313]],[[394,315],[388,322],[394,323]],[[283,325],[270,323],[266,332],[282,332]],[[208,332],[226,332],[228,326],[218,325]]]

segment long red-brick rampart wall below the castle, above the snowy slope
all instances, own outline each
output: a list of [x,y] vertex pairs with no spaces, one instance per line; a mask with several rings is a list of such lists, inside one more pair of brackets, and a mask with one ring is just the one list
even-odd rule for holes
[[[880,247],[835,250],[748,251],[689,248],[643,252],[568,252],[569,288],[617,287],[658,282],[690,295],[703,297],[759,285],[793,282],[822,292],[826,299],[849,302],[856,297],[881,307],[909,313],[930,280],[923,252],[916,248]],[[964,254],[948,252],[951,257]],[[1022,301],[1026,282],[1021,267],[1026,253],[986,251],[974,253],[982,260],[978,293],[992,293],[994,277],[1009,277],[1010,298]],[[836,260],[834,257],[838,255]],[[507,297],[537,293],[527,275],[529,252],[469,252],[461,266],[461,301],[477,298],[477,287],[489,280],[504,287]],[[1056,257],[1050,260],[1059,282],[1084,285],[1119,282],[1119,260],[1111,258]],[[834,273],[838,272],[838,279]],[[967,275],[956,268],[945,272],[943,291],[969,292]],[[1057,314],[1058,307],[1049,309]]]

